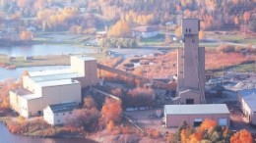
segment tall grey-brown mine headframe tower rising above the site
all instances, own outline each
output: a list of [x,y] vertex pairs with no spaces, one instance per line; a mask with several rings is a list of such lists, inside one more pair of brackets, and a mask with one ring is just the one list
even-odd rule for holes
[[205,103],[205,48],[199,47],[200,21],[183,19],[181,25],[184,39],[177,55],[179,104]]

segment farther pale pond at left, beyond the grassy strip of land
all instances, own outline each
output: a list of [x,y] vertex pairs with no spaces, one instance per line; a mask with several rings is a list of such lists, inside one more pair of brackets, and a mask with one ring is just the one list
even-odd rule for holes
[[12,57],[69,55],[80,53],[95,53],[95,50],[88,48],[79,48],[73,45],[31,45],[0,47],[0,54],[5,54]]

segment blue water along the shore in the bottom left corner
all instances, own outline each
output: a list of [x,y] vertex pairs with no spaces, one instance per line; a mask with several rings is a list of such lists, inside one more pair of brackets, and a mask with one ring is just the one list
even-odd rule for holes
[[96,143],[85,138],[40,138],[12,134],[0,123],[0,143]]

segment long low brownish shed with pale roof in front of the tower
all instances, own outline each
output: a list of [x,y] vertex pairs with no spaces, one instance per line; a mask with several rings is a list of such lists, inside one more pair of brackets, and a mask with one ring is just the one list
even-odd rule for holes
[[225,104],[165,105],[166,127],[178,127],[184,121],[189,126],[199,126],[205,119],[214,119],[221,126],[229,126],[229,111]]

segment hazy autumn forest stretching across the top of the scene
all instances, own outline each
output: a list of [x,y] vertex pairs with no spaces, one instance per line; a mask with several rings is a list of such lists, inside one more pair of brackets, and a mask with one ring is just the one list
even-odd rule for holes
[[76,25],[82,32],[119,20],[135,26],[179,24],[181,18],[198,18],[204,30],[248,25],[255,31],[255,7],[255,0],[1,0],[0,23],[19,24],[16,28],[33,24],[49,31],[71,26],[74,30]]

